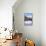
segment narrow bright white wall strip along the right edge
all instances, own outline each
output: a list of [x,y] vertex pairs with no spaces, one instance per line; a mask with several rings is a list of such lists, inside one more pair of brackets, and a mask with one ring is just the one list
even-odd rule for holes
[[46,46],[46,0],[41,1],[41,40],[42,46]]

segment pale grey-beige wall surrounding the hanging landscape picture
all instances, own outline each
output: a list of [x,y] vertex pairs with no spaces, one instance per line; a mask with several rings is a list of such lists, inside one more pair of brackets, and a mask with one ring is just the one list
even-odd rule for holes
[[[24,34],[24,38],[35,41],[36,46],[41,46],[40,31],[40,0],[23,0],[17,7],[13,6],[15,28]],[[24,26],[24,13],[33,13],[33,25]]]

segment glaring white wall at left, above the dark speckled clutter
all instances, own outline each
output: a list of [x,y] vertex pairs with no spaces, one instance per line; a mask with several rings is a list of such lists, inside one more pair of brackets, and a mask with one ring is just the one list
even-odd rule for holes
[[12,28],[12,6],[16,0],[0,0],[0,27]]

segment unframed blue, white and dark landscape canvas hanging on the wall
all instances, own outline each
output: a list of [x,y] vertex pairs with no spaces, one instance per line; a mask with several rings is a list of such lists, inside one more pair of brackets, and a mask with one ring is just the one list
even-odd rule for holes
[[32,26],[32,21],[33,16],[32,13],[24,13],[24,25],[25,26]]

